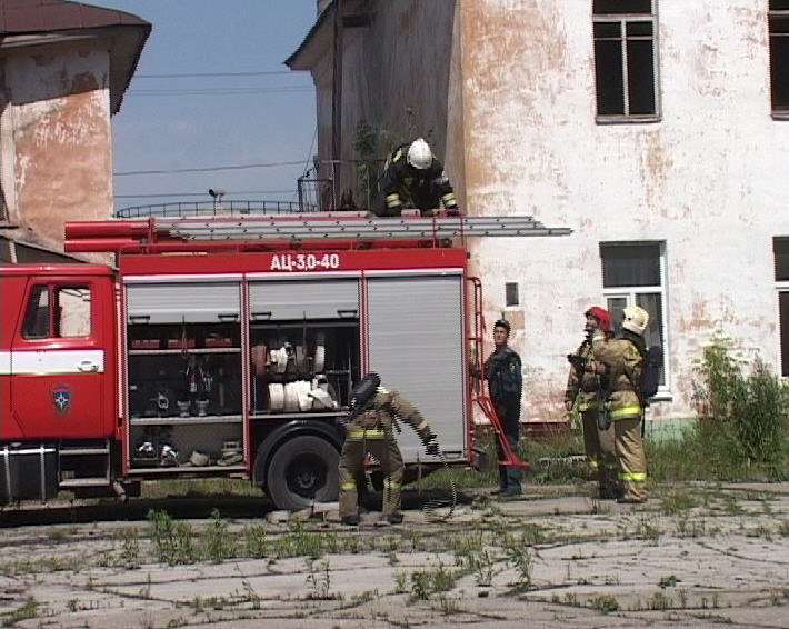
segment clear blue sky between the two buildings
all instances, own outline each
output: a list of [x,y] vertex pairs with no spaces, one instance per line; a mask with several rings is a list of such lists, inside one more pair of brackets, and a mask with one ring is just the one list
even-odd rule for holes
[[83,1],[152,24],[112,117],[116,211],[210,202],[209,189],[297,200],[317,150],[316,97],[310,73],[283,61],[314,23],[314,0]]

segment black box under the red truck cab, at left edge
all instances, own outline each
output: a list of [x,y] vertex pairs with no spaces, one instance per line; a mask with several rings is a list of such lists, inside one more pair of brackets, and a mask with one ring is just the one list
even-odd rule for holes
[[0,450],[0,502],[39,499],[58,495],[58,456],[53,446]]

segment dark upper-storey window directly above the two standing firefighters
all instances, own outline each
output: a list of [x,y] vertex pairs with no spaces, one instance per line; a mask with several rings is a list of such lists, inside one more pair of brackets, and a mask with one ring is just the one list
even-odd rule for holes
[[593,0],[597,116],[658,117],[657,0]]

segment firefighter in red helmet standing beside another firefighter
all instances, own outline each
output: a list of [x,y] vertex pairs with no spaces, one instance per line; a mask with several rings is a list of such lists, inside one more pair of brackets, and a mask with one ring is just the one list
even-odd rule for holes
[[592,306],[587,310],[583,327],[586,338],[573,353],[567,355],[570,375],[567,378],[565,407],[568,412],[577,405],[583,427],[583,449],[597,479],[598,498],[613,499],[619,495],[613,430],[605,413],[608,378],[606,366],[595,358],[591,339],[596,330],[611,333],[607,310]]

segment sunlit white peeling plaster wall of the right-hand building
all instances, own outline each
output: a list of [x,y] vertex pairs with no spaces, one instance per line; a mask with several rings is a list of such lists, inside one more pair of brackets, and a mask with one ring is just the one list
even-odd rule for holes
[[[568,238],[481,241],[489,318],[518,281],[526,420],[558,420],[565,355],[602,301],[601,241],[667,248],[672,402],[692,415],[692,361],[716,329],[779,361],[771,238],[789,233],[789,123],[770,118],[766,3],[661,0],[662,120],[597,124],[590,2],[463,0],[470,213],[535,214]],[[490,320],[490,319],[489,319]]]

